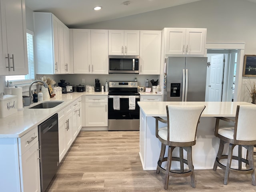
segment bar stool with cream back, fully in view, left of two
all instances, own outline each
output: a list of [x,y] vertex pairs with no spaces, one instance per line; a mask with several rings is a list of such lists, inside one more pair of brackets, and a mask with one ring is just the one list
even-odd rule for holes
[[[165,172],[164,188],[168,188],[169,176],[187,177],[190,176],[192,187],[196,187],[194,166],[192,163],[192,146],[196,144],[196,130],[199,118],[205,106],[166,106],[167,121],[156,118],[156,137],[162,142],[156,173]],[[158,121],[167,122],[167,126],[158,129]],[[168,156],[164,157],[166,146],[168,146]],[[180,157],[173,157],[174,148],[179,147]],[[187,160],[183,158],[183,150],[187,152]],[[162,162],[167,161],[166,169],[162,167]],[[172,161],[180,162],[180,170],[171,170]],[[184,170],[184,164],[188,165],[188,170]]]

